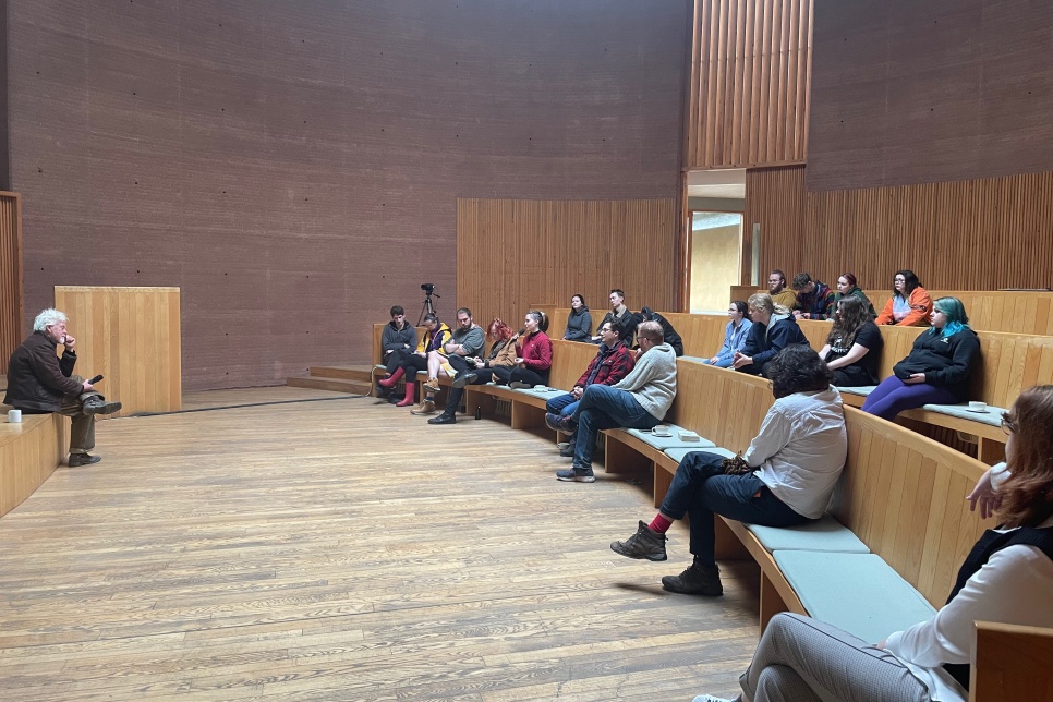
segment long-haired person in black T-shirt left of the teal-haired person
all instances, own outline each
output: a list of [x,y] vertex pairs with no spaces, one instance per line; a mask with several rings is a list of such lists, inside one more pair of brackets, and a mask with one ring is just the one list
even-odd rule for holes
[[849,295],[838,301],[834,326],[826,335],[826,346],[819,352],[819,358],[834,372],[837,387],[877,385],[884,340],[863,300]]

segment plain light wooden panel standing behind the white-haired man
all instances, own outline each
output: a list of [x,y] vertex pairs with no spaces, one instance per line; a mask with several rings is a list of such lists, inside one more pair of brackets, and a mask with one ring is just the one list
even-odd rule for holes
[[77,340],[75,372],[106,376],[118,416],[182,408],[179,288],[56,286],[55,306]]

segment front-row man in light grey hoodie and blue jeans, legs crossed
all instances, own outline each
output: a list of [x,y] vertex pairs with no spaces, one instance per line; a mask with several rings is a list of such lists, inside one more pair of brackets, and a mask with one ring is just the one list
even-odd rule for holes
[[573,414],[550,421],[549,427],[574,436],[574,462],[569,471],[557,471],[556,479],[593,483],[592,455],[596,436],[617,426],[650,429],[662,422],[677,392],[677,358],[673,347],[662,340],[662,326],[644,322],[637,327],[640,351],[629,375],[615,385],[590,385],[581,394]]

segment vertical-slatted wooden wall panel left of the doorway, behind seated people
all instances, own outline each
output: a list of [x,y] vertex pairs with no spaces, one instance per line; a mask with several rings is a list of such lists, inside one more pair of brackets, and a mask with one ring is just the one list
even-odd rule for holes
[[[595,326],[612,288],[632,310],[676,308],[676,225],[673,199],[458,199],[456,304],[513,328],[531,305],[567,307],[574,293]],[[455,302],[443,303],[450,322]]]

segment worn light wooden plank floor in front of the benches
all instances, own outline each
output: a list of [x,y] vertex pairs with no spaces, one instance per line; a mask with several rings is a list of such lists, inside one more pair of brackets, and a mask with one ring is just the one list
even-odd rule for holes
[[[734,693],[757,571],[607,547],[641,487],[566,484],[553,444],[316,390],[184,397],[101,422],[0,519],[3,700],[690,700]],[[646,483],[644,483],[646,485]]]

